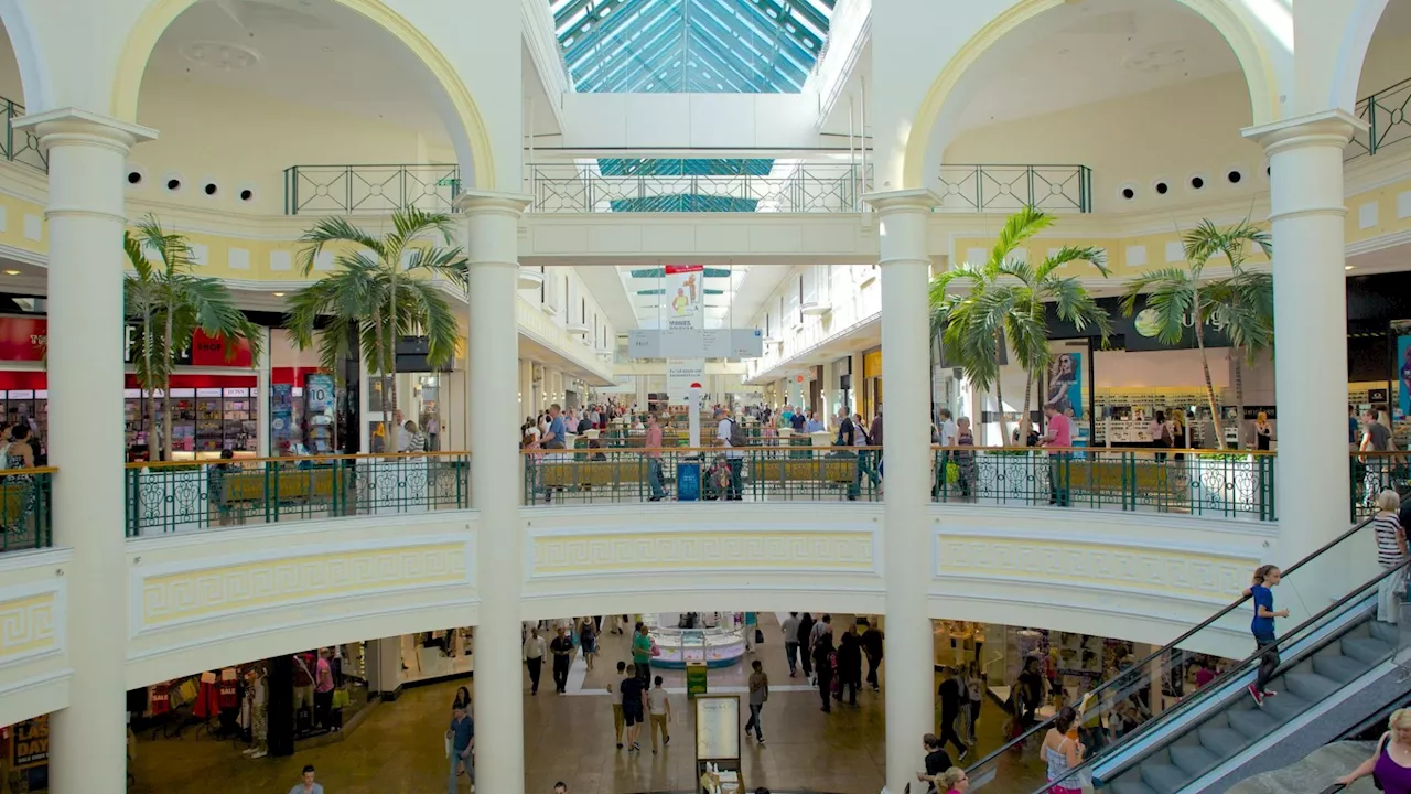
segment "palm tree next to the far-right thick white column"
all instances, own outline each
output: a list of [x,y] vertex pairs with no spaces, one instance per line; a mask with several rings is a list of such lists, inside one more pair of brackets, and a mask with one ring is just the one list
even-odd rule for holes
[[[1245,270],[1245,263],[1249,246],[1259,246],[1266,257],[1273,257],[1274,244],[1268,232],[1252,225],[1249,219],[1229,229],[1202,220],[1181,237],[1181,243],[1187,267],[1163,267],[1129,281],[1122,311],[1132,316],[1137,297],[1146,294],[1146,309],[1137,321],[1150,325],[1157,339],[1177,345],[1185,329],[1192,329],[1205,370],[1205,400],[1215,421],[1215,438],[1221,449],[1225,449],[1225,427],[1215,404],[1205,332],[1206,326],[1223,331],[1232,345],[1250,355],[1273,346],[1274,280],[1268,273]],[[1230,275],[1204,280],[1205,266],[1221,254],[1230,263]],[[1243,403],[1243,389],[1237,391]],[[1240,414],[1243,418],[1243,405]]]

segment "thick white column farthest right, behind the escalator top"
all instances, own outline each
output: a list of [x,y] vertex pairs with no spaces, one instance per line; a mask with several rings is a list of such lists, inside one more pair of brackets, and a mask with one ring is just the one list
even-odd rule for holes
[[[1362,122],[1329,110],[1245,130],[1270,164],[1274,230],[1274,360],[1278,562],[1348,527],[1348,294],[1342,157]],[[1288,355],[1291,353],[1291,355]],[[1312,366],[1309,366],[1312,365]]]

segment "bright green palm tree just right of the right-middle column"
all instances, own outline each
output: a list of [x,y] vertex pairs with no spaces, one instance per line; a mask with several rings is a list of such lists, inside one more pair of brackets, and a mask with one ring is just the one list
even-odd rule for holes
[[[1054,218],[1033,206],[1010,215],[999,239],[982,264],[962,263],[931,281],[931,335],[940,335],[945,357],[958,363],[981,390],[995,387],[999,428],[1009,441],[999,357],[1007,348],[1024,370],[1024,413],[1027,424],[1033,383],[1047,370],[1048,350],[1046,305],[1053,302],[1060,318],[1078,329],[1098,325],[1103,339],[1110,333],[1108,314],[1098,307],[1082,283],[1060,277],[1058,268],[1072,261],[1089,261],[1108,275],[1106,256],[1091,246],[1064,246],[1038,266],[1012,259],[1015,250],[1034,235],[1053,226]],[[951,284],[969,283],[965,294],[948,294]]]

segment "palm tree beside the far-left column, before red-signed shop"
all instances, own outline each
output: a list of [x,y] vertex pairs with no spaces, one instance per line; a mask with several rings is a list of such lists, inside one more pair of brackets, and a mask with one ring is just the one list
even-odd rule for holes
[[[141,324],[140,350],[133,356],[137,381],[151,394],[147,401],[152,432],[147,437],[148,458],[158,459],[157,393],[166,401],[162,411],[164,459],[172,454],[172,359],[178,345],[190,343],[196,329],[226,340],[226,360],[236,356],[233,340],[243,339],[254,360],[260,359],[262,335],[250,322],[219,278],[203,278],[193,273],[190,243],[181,235],[162,230],[157,218],[148,215],[137,225],[137,235],[123,233],[123,251],[131,273],[123,283],[123,314]],[[152,251],[157,261],[147,259]]]

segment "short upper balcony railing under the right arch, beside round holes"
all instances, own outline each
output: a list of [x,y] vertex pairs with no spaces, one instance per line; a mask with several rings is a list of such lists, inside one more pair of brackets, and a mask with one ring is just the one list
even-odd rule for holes
[[941,165],[937,212],[1092,212],[1086,165]]

